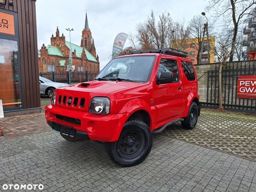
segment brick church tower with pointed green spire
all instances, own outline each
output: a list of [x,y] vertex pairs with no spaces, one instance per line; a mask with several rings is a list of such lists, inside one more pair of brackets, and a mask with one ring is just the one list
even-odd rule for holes
[[91,52],[92,55],[96,58],[96,49],[92,38],[92,32],[88,24],[87,13],[85,15],[85,24],[82,31],[81,47],[84,47],[84,49]]

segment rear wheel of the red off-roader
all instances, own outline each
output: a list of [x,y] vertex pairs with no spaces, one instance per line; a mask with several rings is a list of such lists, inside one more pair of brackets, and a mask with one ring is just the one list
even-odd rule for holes
[[198,106],[196,102],[192,102],[189,107],[188,116],[184,118],[184,121],[181,122],[181,125],[184,129],[194,129],[196,126],[197,120],[198,120]]

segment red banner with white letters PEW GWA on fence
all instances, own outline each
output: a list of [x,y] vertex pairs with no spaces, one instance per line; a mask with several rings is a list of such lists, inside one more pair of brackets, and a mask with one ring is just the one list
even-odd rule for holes
[[237,97],[245,99],[256,99],[256,76],[239,76]]

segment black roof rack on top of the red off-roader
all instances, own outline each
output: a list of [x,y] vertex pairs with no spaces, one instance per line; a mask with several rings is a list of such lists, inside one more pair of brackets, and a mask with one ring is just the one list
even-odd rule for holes
[[130,54],[140,54],[140,53],[160,53],[160,54],[168,54],[172,56],[179,56],[182,58],[187,58],[188,52],[181,51],[179,49],[164,48],[164,49],[150,49],[150,50],[141,50],[141,51],[132,51]]

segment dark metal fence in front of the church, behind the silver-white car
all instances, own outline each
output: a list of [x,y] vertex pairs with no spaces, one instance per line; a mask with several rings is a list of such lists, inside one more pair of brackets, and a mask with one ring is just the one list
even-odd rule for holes
[[97,74],[88,73],[87,71],[85,73],[83,72],[64,72],[60,74],[56,74],[55,72],[47,72],[47,73],[40,73],[41,77],[45,77],[47,79],[50,79],[54,82],[61,82],[61,83],[81,83],[84,81],[92,81],[95,79]]

